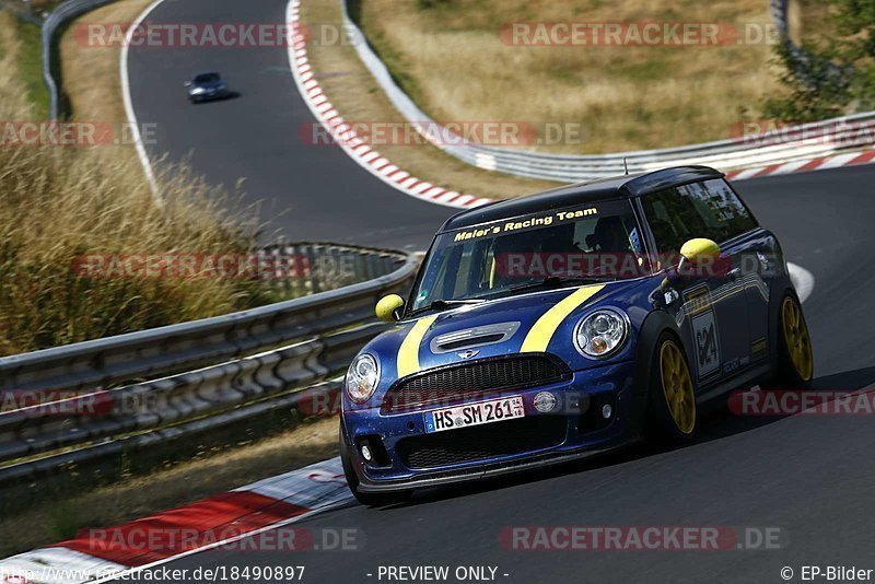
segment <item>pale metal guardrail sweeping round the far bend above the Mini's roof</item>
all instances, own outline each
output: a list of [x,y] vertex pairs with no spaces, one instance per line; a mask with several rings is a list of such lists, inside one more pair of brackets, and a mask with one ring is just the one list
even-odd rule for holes
[[[362,31],[350,19],[347,0],[339,1],[343,28],[350,37],[350,43],[393,105],[413,127],[421,127],[423,130],[440,127],[398,86],[386,66],[368,44]],[[786,0],[772,0],[771,9],[778,31],[786,33]],[[631,172],[685,164],[704,164],[724,171],[783,164],[872,147],[873,130],[875,130],[875,112],[807,124],[792,130],[789,136],[780,130],[758,135],[755,140],[738,138],[679,148],[604,155],[549,154],[465,143],[463,138],[454,136],[446,128],[443,128],[441,133],[448,138],[441,143],[432,143],[463,162],[488,171],[532,178],[580,182],[621,174],[625,164],[628,164]],[[420,133],[428,140],[433,132]],[[806,136],[808,140],[805,140]],[[864,136],[862,143],[860,136]],[[815,139],[810,139],[812,137]]]

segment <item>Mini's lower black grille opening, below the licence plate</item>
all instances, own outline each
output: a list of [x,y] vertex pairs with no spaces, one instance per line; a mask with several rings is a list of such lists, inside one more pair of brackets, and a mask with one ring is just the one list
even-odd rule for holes
[[534,416],[420,434],[398,441],[395,451],[408,468],[436,468],[558,446],[567,428],[562,416]]

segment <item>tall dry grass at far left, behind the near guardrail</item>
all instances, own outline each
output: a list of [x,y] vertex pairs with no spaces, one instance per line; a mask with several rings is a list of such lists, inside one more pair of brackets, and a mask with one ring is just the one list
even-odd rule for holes
[[[0,120],[33,119],[16,71],[21,49],[0,14]],[[102,119],[102,118],[98,118]],[[71,269],[83,254],[246,253],[253,224],[185,168],[165,168],[160,209],[130,148],[0,148],[0,354],[13,354],[242,309],[253,282],[101,279]]]

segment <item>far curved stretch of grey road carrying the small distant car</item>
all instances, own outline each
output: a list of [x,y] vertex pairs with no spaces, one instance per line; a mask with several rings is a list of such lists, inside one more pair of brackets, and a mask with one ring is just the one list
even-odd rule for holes
[[[145,22],[279,24],[284,16],[282,0],[165,0]],[[454,212],[388,188],[340,148],[303,143],[299,132],[314,118],[283,47],[131,47],[128,59],[137,119],[156,128],[150,157],[188,160],[232,192],[243,180],[241,208],[260,203],[266,241],[279,231],[292,241],[422,246]],[[213,70],[240,95],[191,106],[183,82]]]

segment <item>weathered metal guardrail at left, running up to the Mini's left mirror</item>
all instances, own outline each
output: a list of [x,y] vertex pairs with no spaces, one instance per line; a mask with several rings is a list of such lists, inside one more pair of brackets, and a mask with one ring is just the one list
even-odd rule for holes
[[[0,359],[0,397],[70,393],[0,413],[0,484],[131,454],[300,400],[303,389],[341,372],[383,330],[374,323],[374,304],[408,288],[419,264],[413,255],[330,244],[281,246],[268,254],[278,250],[307,254],[313,266],[345,262],[368,280],[241,313]],[[314,269],[307,279],[325,276]]]

